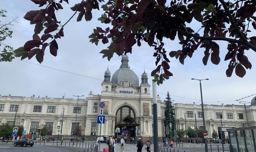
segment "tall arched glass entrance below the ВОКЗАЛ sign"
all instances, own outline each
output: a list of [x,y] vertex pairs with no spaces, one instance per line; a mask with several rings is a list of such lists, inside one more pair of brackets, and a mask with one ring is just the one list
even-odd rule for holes
[[136,126],[139,124],[135,120],[135,112],[129,106],[122,106],[116,112],[115,136],[124,140],[136,137]]

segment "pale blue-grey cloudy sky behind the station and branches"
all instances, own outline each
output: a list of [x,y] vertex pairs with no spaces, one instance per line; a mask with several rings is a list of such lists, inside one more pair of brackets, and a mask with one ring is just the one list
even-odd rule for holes
[[[57,12],[57,19],[62,23],[72,16],[69,8],[80,0],[70,0],[70,4],[63,5],[64,10]],[[38,10],[37,5],[29,0],[1,0],[0,9],[5,9],[8,17],[2,22],[8,22],[12,17],[18,16],[14,22],[12,30],[13,37],[5,41],[5,44],[13,46],[15,49],[23,46],[28,40],[32,40],[34,26],[25,20],[23,16],[29,10]],[[104,79],[104,72],[109,68],[111,75],[118,70],[121,64],[121,57],[115,55],[110,62],[99,52],[107,45],[99,43],[98,46],[89,42],[88,36],[93,28],[102,26],[100,21],[101,12],[94,12],[90,22],[82,20],[76,22],[73,18],[64,27],[64,37],[58,39],[58,55],[52,56],[46,50],[44,61],[39,64],[36,58],[23,61],[13,60],[12,62],[0,62],[0,94],[2,96],[11,94],[12,96],[48,96],[50,98],[73,98],[72,95],[88,96],[92,91],[94,94],[101,94],[101,83]],[[77,16],[77,15],[76,15]],[[190,26],[198,29],[198,24]],[[104,25],[106,27],[106,25]],[[255,35],[255,30],[252,30]],[[166,50],[178,50],[180,45],[177,41],[165,41]],[[169,91],[174,103],[200,104],[199,81],[191,78],[210,80],[202,81],[203,99],[205,104],[239,104],[237,99],[250,102],[256,96],[256,52],[246,51],[252,70],[246,70],[244,78],[240,78],[233,73],[231,78],[226,77],[226,69],[229,61],[224,61],[226,50],[225,43],[220,44],[221,62],[218,66],[210,61],[207,66],[202,63],[204,50],[197,50],[192,58],[186,58],[184,65],[180,64],[176,58],[171,58],[172,76],[164,84],[157,87],[157,92],[162,100],[166,98]],[[2,49],[2,48],[1,48]],[[152,85],[150,73],[155,68],[155,58],[152,56],[154,49],[142,43],[140,47],[134,47],[129,56],[130,68],[138,75],[141,83],[141,74],[144,69],[149,76],[148,82]],[[253,95],[253,96],[252,96]],[[250,96],[250,97],[248,97]],[[245,98],[248,97],[248,98]]]

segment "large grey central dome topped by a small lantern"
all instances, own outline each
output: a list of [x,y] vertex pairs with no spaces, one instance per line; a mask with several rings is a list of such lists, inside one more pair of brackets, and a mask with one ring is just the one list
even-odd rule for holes
[[112,84],[117,85],[120,82],[128,81],[134,84],[134,86],[139,86],[138,76],[135,74],[135,72],[133,72],[130,69],[130,66],[128,65],[128,62],[129,62],[128,56],[123,55],[121,62],[122,64],[120,68],[112,76],[112,80],[111,80]]

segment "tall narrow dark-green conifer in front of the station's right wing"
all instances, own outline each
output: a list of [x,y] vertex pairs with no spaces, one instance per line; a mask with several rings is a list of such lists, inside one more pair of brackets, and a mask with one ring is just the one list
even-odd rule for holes
[[[174,120],[174,109],[172,106],[172,98],[170,97],[169,92],[167,92],[166,98],[165,98],[165,108],[164,108],[164,126],[166,129],[166,126],[170,127],[170,118],[171,118],[171,124],[172,124],[172,137],[174,136],[175,131],[175,120]],[[170,104],[170,112],[169,112],[169,104]],[[170,134],[167,135],[168,138],[170,138]]]

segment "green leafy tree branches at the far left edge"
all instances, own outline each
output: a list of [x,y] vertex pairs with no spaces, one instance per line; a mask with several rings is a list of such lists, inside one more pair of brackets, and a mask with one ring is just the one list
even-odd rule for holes
[[13,18],[10,22],[2,24],[1,22],[4,20],[2,18],[6,17],[5,13],[6,10],[0,10],[0,62],[11,62],[15,54],[11,46],[4,44],[4,40],[12,38],[13,31],[10,30],[10,26],[13,26],[12,23],[16,22],[17,17]]

